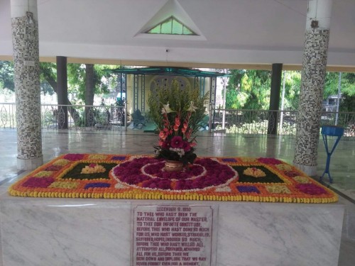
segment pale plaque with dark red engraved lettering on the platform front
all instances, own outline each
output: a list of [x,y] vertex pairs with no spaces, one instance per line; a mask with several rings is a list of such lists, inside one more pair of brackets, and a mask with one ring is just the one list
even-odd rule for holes
[[211,206],[133,207],[133,266],[212,265]]

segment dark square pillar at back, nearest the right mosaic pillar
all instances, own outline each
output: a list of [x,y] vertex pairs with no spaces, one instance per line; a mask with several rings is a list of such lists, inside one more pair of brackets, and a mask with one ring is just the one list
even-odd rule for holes
[[283,75],[283,64],[273,64],[273,73],[271,77],[270,93],[270,116],[268,118],[268,134],[276,135],[278,133],[278,111],[280,106],[280,87],[281,77]]

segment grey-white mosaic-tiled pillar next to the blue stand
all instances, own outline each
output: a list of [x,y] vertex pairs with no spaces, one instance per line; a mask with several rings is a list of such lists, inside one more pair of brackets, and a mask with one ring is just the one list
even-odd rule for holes
[[309,1],[293,164],[311,176],[317,174],[331,12],[332,0]]

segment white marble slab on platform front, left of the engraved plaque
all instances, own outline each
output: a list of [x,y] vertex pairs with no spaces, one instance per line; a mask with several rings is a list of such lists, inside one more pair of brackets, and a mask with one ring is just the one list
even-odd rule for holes
[[130,213],[120,201],[1,200],[4,266],[129,265]]

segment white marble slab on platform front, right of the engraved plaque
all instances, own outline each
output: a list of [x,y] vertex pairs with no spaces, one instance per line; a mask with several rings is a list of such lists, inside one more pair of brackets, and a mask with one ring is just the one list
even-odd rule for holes
[[[220,265],[337,265],[342,206],[223,204]],[[226,241],[228,239],[229,241]]]

